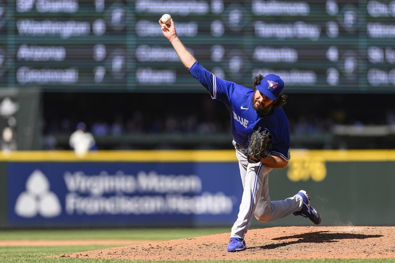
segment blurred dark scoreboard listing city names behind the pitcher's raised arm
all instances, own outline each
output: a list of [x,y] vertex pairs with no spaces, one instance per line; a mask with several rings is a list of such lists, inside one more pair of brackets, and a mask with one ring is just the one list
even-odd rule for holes
[[162,35],[217,77],[288,92],[394,92],[395,1],[1,0],[0,85],[73,91],[204,91]]

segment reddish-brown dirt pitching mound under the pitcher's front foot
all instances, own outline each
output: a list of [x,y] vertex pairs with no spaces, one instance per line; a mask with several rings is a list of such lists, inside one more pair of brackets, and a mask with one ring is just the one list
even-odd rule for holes
[[247,250],[227,252],[229,233],[107,248],[56,257],[145,260],[394,258],[395,227],[251,229]]

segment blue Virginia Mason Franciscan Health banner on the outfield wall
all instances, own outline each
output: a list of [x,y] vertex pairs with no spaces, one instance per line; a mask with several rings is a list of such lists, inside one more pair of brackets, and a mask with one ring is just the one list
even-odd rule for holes
[[8,223],[28,226],[233,224],[237,162],[8,163]]

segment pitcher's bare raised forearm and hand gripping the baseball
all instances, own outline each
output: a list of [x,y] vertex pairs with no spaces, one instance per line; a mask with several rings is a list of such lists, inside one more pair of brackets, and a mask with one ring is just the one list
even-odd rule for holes
[[170,21],[171,24],[164,24],[159,19],[159,24],[162,26],[162,33],[167,39],[169,39],[171,45],[173,45],[175,52],[177,52],[177,55],[180,58],[182,64],[184,64],[184,66],[189,70],[197,60],[185,48],[185,46],[181,43],[181,40],[177,37],[173,19],[171,19]]

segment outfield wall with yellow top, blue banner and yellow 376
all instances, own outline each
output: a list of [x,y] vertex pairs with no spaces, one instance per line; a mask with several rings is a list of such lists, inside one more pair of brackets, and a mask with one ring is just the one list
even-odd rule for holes
[[[285,199],[302,189],[310,194],[322,225],[395,225],[395,150],[292,150],[291,155],[285,169],[269,173],[272,200]],[[156,156],[155,162],[152,156]],[[115,189],[114,178],[126,181]],[[144,178],[144,189],[133,185],[137,186],[140,178]],[[160,178],[172,182],[167,183],[166,191],[155,188]],[[191,180],[180,181],[185,178]],[[0,154],[0,180],[0,226],[6,228],[230,227],[242,193],[233,150],[98,151],[82,157],[70,151],[11,152]],[[169,188],[176,182],[178,188]],[[186,189],[186,185],[190,187]],[[37,204],[32,200],[41,198],[43,192],[56,195],[60,210],[48,209],[56,206],[50,198],[31,209]],[[30,198],[31,193],[36,197]],[[87,204],[83,209],[77,205],[70,208],[67,200],[75,196],[79,199],[73,200]],[[128,207],[95,210],[96,199],[102,206],[116,199],[112,205],[126,202]],[[181,203],[174,205],[178,201]],[[134,202],[139,202],[139,210]],[[254,219],[252,224],[278,225],[312,224],[293,215],[269,223]]]

